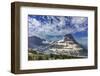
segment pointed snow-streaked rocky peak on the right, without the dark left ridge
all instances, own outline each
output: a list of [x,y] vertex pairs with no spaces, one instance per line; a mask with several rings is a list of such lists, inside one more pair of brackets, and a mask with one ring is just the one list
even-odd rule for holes
[[52,43],[45,53],[68,56],[84,56],[84,54],[82,54],[83,50],[84,48],[75,41],[74,37],[71,34],[67,34],[64,36],[63,40]]

